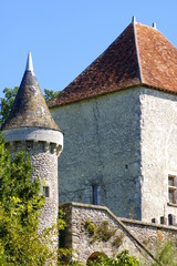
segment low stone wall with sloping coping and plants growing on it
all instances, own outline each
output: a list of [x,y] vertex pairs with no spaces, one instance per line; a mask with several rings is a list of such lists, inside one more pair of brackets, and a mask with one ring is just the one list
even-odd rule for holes
[[[173,226],[121,219],[108,208],[101,206],[70,203],[61,207],[66,214],[67,223],[63,244],[67,248],[72,247],[74,259],[84,264],[95,254],[115,256],[128,249],[131,255],[135,255],[143,265],[148,266],[154,260],[157,239],[173,237],[177,241],[177,228]],[[96,238],[97,233],[91,234],[92,227],[85,226],[91,223],[100,232],[104,226],[100,238]]]

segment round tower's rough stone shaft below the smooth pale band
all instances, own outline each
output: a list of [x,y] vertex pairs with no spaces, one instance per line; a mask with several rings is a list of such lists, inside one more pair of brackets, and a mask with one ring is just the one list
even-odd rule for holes
[[[12,156],[25,151],[31,156],[32,178],[39,177],[42,186],[49,187],[49,197],[45,197],[44,208],[40,218],[40,231],[56,223],[59,209],[58,193],[58,155],[55,145],[46,142],[11,142],[7,144]],[[41,192],[43,193],[43,192]]]

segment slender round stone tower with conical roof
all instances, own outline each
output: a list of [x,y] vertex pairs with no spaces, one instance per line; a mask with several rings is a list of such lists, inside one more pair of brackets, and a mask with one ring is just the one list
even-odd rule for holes
[[12,110],[2,125],[11,154],[23,150],[31,155],[32,178],[42,180],[45,196],[40,231],[56,223],[59,211],[58,156],[63,134],[53,121],[33,71],[31,53]]

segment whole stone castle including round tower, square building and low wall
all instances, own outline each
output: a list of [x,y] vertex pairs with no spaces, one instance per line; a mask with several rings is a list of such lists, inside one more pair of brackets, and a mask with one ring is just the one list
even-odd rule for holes
[[31,155],[32,178],[45,178],[41,228],[60,198],[63,246],[80,262],[128,248],[149,265],[157,239],[177,241],[176,48],[134,19],[49,108],[29,54],[2,134],[12,154]]

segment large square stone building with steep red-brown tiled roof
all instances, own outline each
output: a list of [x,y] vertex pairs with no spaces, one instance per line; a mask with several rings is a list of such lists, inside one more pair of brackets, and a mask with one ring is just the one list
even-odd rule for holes
[[133,20],[49,108],[64,132],[60,203],[176,223],[177,50],[155,24]]

